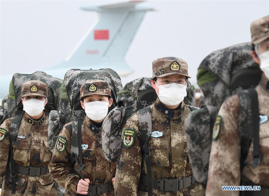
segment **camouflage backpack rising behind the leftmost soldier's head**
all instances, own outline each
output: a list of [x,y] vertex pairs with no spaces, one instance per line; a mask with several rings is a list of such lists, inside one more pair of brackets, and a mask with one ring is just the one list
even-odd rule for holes
[[9,86],[9,95],[7,99],[7,118],[15,117],[22,114],[21,92],[22,84],[30,81],[38,80],[44,82],[48,88],[48,103],[45,106],[45,113],[51,110],[59,109],[59,95],[62,80],[52,77],[43,71],[36,71],[33,74],[19,74],[13,75]]

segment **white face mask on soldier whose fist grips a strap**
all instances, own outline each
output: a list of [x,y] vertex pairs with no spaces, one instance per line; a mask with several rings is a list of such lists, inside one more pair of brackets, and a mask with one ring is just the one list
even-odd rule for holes
[[85,113],[91,120],[102,120],[106,117],[108,113],[108,102],[93,101],[83,104],[85,106]]

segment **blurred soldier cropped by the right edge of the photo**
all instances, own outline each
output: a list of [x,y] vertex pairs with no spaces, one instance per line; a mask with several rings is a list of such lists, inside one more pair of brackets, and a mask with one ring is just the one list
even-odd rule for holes
[[[213,130],[213,142],[210,153],[209,173],[206,195],[239,195],[239,191],[223,191],[221,186],[261,186],[261,192],[245,191],[244,195],[269,195],[269,15],[251,23],[252,56],[262,68],[262,61],[267,60],[267,70],[256,87],[259,102],[259,147],[261,157],[253,165],[253,141],[251,142],[246,164],[240,171],[240,138],[239,138],[239,96],[233,95],[221,106]],[[256,46],[260,46],[256,50]],[[255,49],[254,49],[255,48]],[[263,69],[262,69],[263,70]],[[247,99],[244,102],[247,104]],[[243,106],[244,107],[244,106]],[[241,119],[242,120],[242,119]],[[246,120],[246,119],[245,119]],[[248,122],[246,122],[248,123]],[[254,134],[254,133],[253,133]],[[243,182],[243,183],[242,183]]]

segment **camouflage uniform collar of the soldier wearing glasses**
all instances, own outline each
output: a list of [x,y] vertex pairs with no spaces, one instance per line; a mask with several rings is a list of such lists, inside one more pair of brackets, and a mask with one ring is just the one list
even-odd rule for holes
[[184,111],[184,107],[185,107],[184,103],[181,102],[178,109],[176,110],[168,109],[161,103],[159,98],[156,99],[154,106],[159,112],[169,117],[170,119],[178,119],[181,113]]

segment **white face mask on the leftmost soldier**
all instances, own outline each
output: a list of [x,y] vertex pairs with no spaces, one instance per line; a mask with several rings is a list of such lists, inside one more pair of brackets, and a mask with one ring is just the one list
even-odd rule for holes
[[45,100],[28,99],[23,101],[23,110],[30,116],[38,116],[45,109]]

